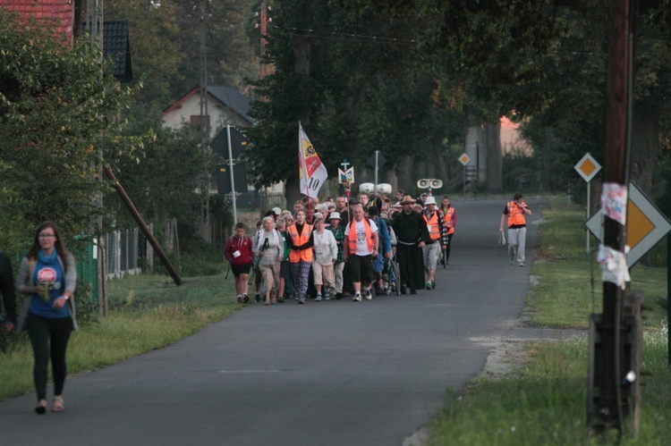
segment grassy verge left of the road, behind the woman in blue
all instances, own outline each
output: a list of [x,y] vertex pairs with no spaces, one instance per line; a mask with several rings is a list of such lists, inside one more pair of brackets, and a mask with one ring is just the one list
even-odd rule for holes
[[[233,275],[228,280],[224,274],[184,278],[176,287],[168,276],[142,274],[108,282],[107,288],[109,316],[72,336],[68,346],[70,374],[166,347],[237,308]],[[17,345],[2,356],[0,399],[21,395],[33,386],[32,374],[27,373],[32,369],[30,344],[24,340]]]

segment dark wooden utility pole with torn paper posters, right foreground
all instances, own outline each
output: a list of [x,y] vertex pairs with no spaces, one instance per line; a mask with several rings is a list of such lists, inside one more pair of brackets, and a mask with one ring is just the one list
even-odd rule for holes
[[[632,135],[634,22],[637,0],[613,0],[610,11],[607,147],[604,167],[604,242],[601,254],[616,262],[616,273],[625,276],[626,208],[629,182],[629,150]],[[632,312],[624,311],[627,282],[605,279],[603,313],[590,321],[590,376],[588,389],[588,428],[604,433],[615,428],[622,434],[625,417],[633,415],[637,401],[627,391],[639,379],[640,364],[631,355],[638,351],[632,332]],[[640,316],[642,297],[634,304]],[[631,307],[631,303],[627,303]],[[628,308],[627,307],[627,308]],[[626,317],[625,317],[626,316]],[[635,316],[634,316],[635,317]],[[626,342],[624,341],[626,338]],[[626,345],[626,348],[625,348]],[[634,355],[636,357],[636,355]],[[632,380],[633,378],[633,380]],[[638,386],[638,382],[633,384]],[[634,426],[635,426],[634,422]]]

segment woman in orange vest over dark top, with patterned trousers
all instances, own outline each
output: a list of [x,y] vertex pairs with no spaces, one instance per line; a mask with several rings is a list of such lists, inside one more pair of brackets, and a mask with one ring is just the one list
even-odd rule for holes
[[308,293],[308,281],[310,280],[310,266],[312,265],[312,247],[315,244],[312,225],[305,221],[305,212],[296,213],[296,222],[287,228],[289,232],[289,243],[291,253],[289,261],[292,266],[293,288],[299,304],[305,303],[305,295]]

